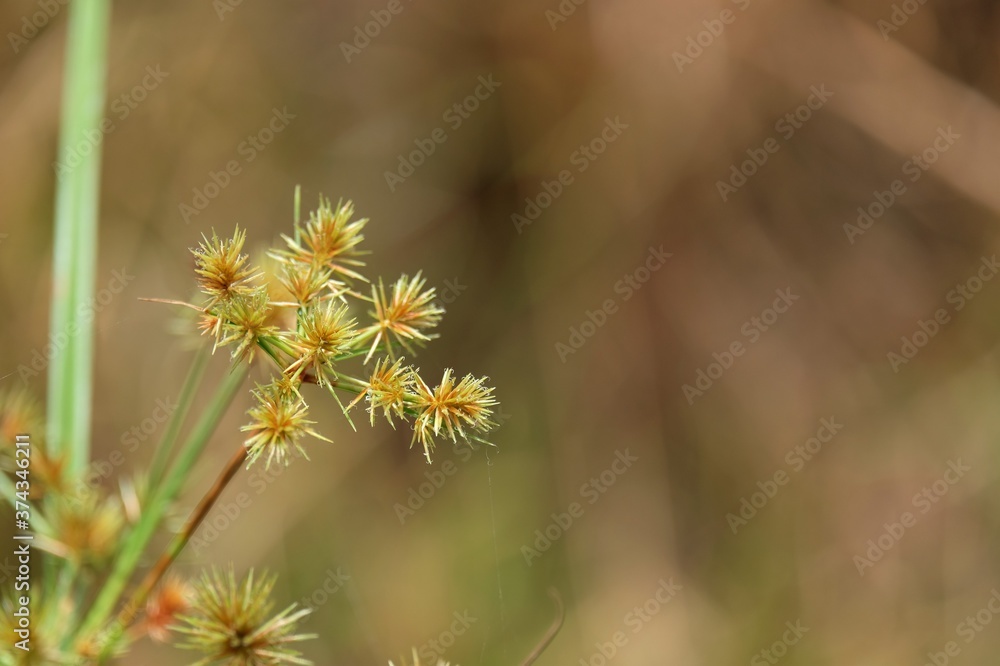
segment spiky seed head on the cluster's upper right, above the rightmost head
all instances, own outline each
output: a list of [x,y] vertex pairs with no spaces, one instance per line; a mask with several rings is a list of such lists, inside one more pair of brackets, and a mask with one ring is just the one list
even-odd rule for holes
[[379,280],[378,287],[372,285],[372,302],[375,310],[371,313],[374,322],[361,330],[360,339],[371,339],[371,349],[365,363],[371,359],[380,343],[384,342],[389,356],[394,356],[393,341],[413,354],[411,342],[424,343],[434,336],[426,331],[441,321],[444,308],[439,306],[433,287],[424,289],[427,281],[418,272],[412,278],[403,275],[392,285],[390,297],[386,297],[385,285]]

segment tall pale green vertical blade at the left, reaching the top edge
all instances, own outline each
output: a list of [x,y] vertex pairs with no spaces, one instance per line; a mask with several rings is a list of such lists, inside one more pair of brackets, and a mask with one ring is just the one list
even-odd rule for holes
[[110,0],[75,0],[69,28],[59,129],[50,342],[48,444],[65,454],[65,469],[83,474],[90,459],[94,341],[94,275],[101,146],[79,147],[99,134],[105,104]]

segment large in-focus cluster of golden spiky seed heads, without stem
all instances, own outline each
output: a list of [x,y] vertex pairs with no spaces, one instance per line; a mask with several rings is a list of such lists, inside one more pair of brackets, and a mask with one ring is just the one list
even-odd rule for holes
[[[266,270],[249,264],[239,228],[227,239],[213,232],[192,251],[205,296],[194,306],[198,328],[216,348],[230,347],[234,362],[263,357],[272,368],[271,383],[253,392],[256,404],[243,426],[249,464],[287,465],[294,452],[304,453],[307,436],[325,439],[309,420],[304,384],[326,388],[345,416],[364,400],[373,425],[377,413],[393,427],[410,423],[410,445],[419,444],[428,462],[442,437],[486,441],[496,426],[486,378],[458,379],[447,369],[431,386],[404,362],[401,352],[412,357],[437,337],[444,309],[419,272],[388,288],[365,277],[368,220],[353,218],[351,202],[334,206],[320,197],[309,219],[267,253]],[[341,394],[350,398],[346,406]]]

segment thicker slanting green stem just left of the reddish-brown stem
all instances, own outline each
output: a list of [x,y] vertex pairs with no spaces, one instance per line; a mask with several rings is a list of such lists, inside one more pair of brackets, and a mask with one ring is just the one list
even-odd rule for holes
[[[77,633],[77,643],[80,644],[90,638],[107,621],[108,617],[118,603],[125,587],[135,571],[139,559],[142,557],[146,546],[156,532],[170,503],[177,497],[184,481],[188,478],[191,468],[194,466],[198,456],[204,450],[209,438],[215,428],[222,420],[226,409],[235,397],[236,392],[243,384],[247,375],[247,367],[240,366],[233,368],[227,373],[222,384],[217,389],[215,395],[202,413],[198,423],[188,436],[183,448],[177,455],[177,460],[167,473],[163,484],[150,497],[149,503],[143,510],[139,522],[129,533],[122,544],[118,558],[108,576],[104,587],[98,593],[90,611],[84,618],[80,631]],[[111,631],[114,631],[112,628]],[[112,638],[114,638],[112,636]]]

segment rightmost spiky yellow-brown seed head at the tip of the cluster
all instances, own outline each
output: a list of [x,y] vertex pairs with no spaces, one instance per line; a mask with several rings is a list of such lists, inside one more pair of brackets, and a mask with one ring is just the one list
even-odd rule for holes
[[434,450],[434,437],[444,433],[453,442],[457,437],[468,442],[478,439],[472,433],[485,434],[496,426],[492,416],[497,401],[493,387],[486,386],[486,377],[466,375],[456,384],[448,368],[433,390],[419,375],[414,374],[414,379],[414,407],[419,413],[413,423],[413,441],[423,445],[427,462]]

